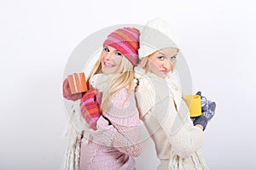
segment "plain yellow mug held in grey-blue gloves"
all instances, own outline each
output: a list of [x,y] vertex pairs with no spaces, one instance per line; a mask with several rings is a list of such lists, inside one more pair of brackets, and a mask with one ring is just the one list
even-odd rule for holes
[[201,116],[201,97],[200,95],[186,95],[183,97],[189,107],[190,117]]

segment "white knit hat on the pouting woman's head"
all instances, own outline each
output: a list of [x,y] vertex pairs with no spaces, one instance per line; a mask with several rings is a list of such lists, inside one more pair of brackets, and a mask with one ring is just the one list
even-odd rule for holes
[[177,38],[169,24],[160,18],[148,21],[140,35],[139,59],[162,48],[177,48]]

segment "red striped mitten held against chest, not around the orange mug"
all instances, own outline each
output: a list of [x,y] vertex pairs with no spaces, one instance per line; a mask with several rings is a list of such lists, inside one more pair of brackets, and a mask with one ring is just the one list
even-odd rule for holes
[[80,103],[81,113],[84,116],[85,121],[88,122],[89,126],[94,130],[96,130],[97,120],[102,115],[99,102],[96,99],[96,94],[96,88],[91,88],[84,94]]

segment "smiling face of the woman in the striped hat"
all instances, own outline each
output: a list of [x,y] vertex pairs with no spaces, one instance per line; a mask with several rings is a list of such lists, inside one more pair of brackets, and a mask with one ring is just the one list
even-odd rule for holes
[[104,47],[101,54],[102,73],[113,74],[118,72],[123,57],[116,48],[112,48],[111,46]]

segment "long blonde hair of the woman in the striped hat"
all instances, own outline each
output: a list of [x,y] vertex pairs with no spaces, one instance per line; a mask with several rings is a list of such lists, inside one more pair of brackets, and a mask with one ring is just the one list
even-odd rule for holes
[[[89,88],[92,88],[90,86],[90,78],[102,72],[101,60],[102,59],[100,57],[96,61],[96,64],[93,66],[92,70],[90,71],[90,75],[88,77],[88,82],[87,82]],[[122,59],[118,74],[113,77],[113,79],[110,82],[110,86],[108,87],[107,91],[103,95],[102,105],[101,105],[102,112],[108,111],[111,98],[113,97],[114,94],[116,94],[119,91],[119,89],[127,88],[128,90],[127,99],[128,99],[129,94],[133,89],[133,80],[134,80],[133,65],[123,55],[123,59]]]

